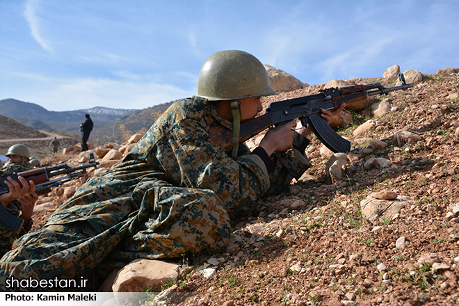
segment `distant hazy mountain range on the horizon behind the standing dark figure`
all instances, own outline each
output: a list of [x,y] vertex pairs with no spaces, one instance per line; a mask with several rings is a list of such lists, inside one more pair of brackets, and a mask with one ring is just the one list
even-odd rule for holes
[[79,125],[84,122],[84,115],[88,113],[94,122],[90,139],[108,142],[121,140],[129,132],[150,129],[157,115],[166,111],[172,103],[173,101],[142,110],[96,106],[77,111],[48,111],[31,102],[2,99],[0,115],[33,129],[49,129],[80,135]]

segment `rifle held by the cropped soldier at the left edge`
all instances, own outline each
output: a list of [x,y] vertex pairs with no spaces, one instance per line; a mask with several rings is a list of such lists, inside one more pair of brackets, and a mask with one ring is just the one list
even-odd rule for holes
[[[35,183],[35,193],[44,194],[49,192],[51,187],[61,186],[65,182],[68,182],[72,179],[78,179],[79,177],[86,175],[86,168],[94,167],[97,169],[98,164],[99,162],[95,161],[94,153],[90,152],[88,163],[83,163],[81,166],[70,167],[67,166],[66,163],[61,163],[56,166],[36,168],[19,173],[13,173],[11,175],[2,175],[0,177],[0,195],[3,193],[8,193],[8,186],[6,186],[4,182],[7,177],[12,177],[17,182],[19,182],[19,179],[17,178],[19,176],[24,177],[27,182],[33,181]],[[51,177],[56,178],[51,179]],[[3,207],[3,205],[0,204],[1,226],[5,227],[7,230],[19,234],[22,223],[24,223],[22,218],[13,216],[5,209],[5,207]]]

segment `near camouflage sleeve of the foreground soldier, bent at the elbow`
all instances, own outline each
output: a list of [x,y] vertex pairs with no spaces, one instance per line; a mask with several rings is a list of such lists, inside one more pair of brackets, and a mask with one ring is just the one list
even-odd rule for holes
[[[269,188],[268,170],[257,155],[244,154],[236,160],[214,145],[209,130],[199,120],[186,119],[168,134],[168,144],[177,160],[176,166],[159,150],[156,158],[162,168],[182,175],[187,188],[210,189],[233,211],[261,197]],[[250,153],[250,152],[249,152]]]

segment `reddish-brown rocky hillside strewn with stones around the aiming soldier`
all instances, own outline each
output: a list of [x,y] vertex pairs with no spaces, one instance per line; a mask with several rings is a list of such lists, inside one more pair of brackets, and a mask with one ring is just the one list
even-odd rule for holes
[[[351,140],[348,154],[332,154],[312,138],[312,168],[279,195],[233,214],[225,252],[171,259],[178,273],[162,286],[151,274],[131,282],[138,291],[167,289],[162,299],[151,296],[144,304],[458,304],[459,70],[416,76],[412,88],[348,113],[351,120],[338,128]],[[347,82],[393,86],[394,79]],[[324,87],[300,88],[263,103]],[[90,175],[118,163],[136,140],[95,148],[104,158]],[[68,148],[45,162],[72,156],[67,163],[77,165],[85,161],[77,152]],[[66,183],[40,198],[35,230],[81,184]],[[113,274],[102,290],[122,291],[129,282],[124,272],[118,274],[127,275],[123,280]]]

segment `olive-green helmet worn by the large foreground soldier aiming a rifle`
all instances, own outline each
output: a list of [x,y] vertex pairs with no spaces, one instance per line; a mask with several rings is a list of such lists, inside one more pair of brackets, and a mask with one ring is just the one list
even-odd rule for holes
[[239,50],[219,51],[202,64],[198,96],[211,101],[276,95],[268,72],[252,54]]

